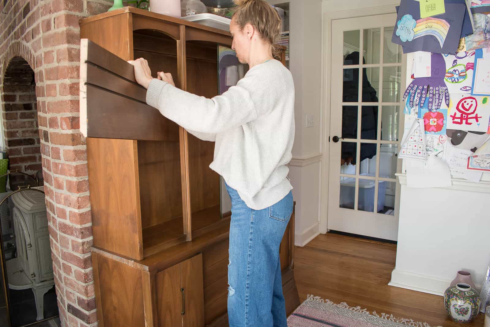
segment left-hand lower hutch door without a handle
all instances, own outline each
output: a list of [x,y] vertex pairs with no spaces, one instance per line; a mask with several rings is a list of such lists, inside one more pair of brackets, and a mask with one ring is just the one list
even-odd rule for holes
[[180,264],[156,274],[156,296],[159,327],[182,326],[182,292]]

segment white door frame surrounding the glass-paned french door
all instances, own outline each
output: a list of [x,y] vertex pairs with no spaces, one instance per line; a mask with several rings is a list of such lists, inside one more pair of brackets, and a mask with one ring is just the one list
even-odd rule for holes
[[[319,203],[319,231],[322,234],[327,232],[327,222],[328,222],[328,180],[329,180],[329,160],[328,156],[330,153],[330,143],[328,137],[330,136],[330,98],[331,98],[331,70],[332,65],[332,21],[336,19],[344,18],[355,18],[363,16],[372,15],[382,15],[382,14],[392,14],[396,13],[394,5],[384,5],[377,7],[369,7],[354,10],[342,10],[342,11],[329,11],[323,13],[323,40],[322,40],[322,70],[321,70],[321,110],[320,120],[322,122],[322,128],[320,129],[321,141],[322,141],[322,153],[323,160],[321,162],[321,179],[320,179],[320,203]],[[395,22],[393,22],[394,25]],[[402,55],[402,88],[404,86],[404,81],[406,80],[406,66],[407,66],[407,55]],[[403,106],[400,106],[400,121],[399,127],[403,128],[404,115]],[[401,170],[401,164],[398,164],[397,172]],[[400,182],[396,182],[396,192],[395,192],[395,208],[399,210],[400,203]]]

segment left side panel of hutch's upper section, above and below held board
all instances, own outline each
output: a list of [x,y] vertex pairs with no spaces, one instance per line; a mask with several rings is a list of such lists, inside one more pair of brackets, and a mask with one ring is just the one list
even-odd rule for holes
[[[133,59],[129,13],[81,25],[80,36]],[[87,160],[94,246],[143,259],[136,141],[87,138]]]

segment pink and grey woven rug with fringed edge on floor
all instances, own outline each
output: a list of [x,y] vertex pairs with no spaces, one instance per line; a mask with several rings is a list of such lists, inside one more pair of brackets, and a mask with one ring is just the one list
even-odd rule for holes
[[[350,307],[342,302],[335,304],[329,300],[308,295],[308,299],[294,310],[288,318],[288,327],[430,327],[412,319],[395,318],[393,315],[366,309]],[[438,326],[441,327],[441,326]]]

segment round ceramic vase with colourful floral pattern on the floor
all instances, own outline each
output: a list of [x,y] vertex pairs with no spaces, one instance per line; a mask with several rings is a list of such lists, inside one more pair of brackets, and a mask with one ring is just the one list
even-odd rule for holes
[[449,286],[444,292],[446,313],[458,323],[469,323],[480,311],[480,296],[468,284],[457,283]]

